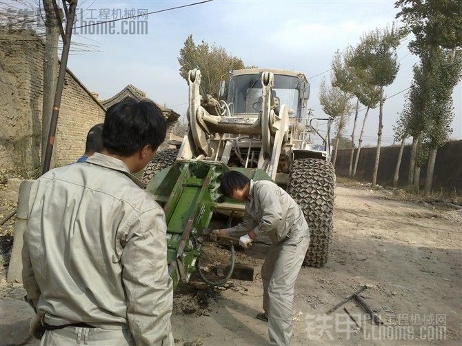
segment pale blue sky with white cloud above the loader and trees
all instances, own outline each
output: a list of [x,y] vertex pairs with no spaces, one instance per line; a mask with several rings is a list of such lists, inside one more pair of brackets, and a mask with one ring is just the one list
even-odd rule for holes
[[[125,8],[160,10],[194,1],[79,1],[84,9]],[[185,114],[188,86],[179,76],[177,58],[183,42],[194,40],[222,45],[246,65],[286,68],[312,77],[330,68],[337,49],[356,45],[361,34],[395,21],[394,1],[212,1],[148,17],[148,34],[75,35],[74,41],[92,43],[99,52],[73,54],[72,72],[102,99],[133,84],[151,99]],[[85,12],[88,14],[89,12]],[[85,17],[86,15],[84,15]],[[120,22],[119,22],[120,23]],[[117,26],[119,26],[117,23]],[[116,26],[116,28],[118,28]],[[92,41],[94,40],[94,41]],[[401,68],[386,88],[391,96],[408,88],[416,57],[407,45],[398,50]],[[319,84],[329,73],[310,79],[309,105],[322,116]],[[385,102],[383,144],[392,143],[392,125],[403,107],[405,92]],[[462,87],[454,90],[452,138],[462,139]],[[361,112],[359,121],[362,121]],[[370,112],[366,145],[376,141],[378,110]],[[352,127],[350,121],[349,128]],[[347,130],[347,132],[351,132]],[[357,138],[357,135],[356,135]]]

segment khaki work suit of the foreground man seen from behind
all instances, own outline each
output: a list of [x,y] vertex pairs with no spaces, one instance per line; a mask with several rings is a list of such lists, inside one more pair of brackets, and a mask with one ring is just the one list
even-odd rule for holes
[[41,345],[173,345],[165,215],[128,167],[95,153],[32,185],[23,285]]

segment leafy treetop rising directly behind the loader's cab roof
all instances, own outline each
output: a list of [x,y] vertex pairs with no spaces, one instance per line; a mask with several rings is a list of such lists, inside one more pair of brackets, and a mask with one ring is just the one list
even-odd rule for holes
[[244,68],[241,58],[234,57],[220,45],[210,45],[205,41],[196,44],[192,34],[185,40],[178,62],[180,63],[180,76],[186,81],[188,81],[189,71],[199,68],[203,88],[212,96],[218,96],[219,83],[223,74],[227,74],[229,70]]

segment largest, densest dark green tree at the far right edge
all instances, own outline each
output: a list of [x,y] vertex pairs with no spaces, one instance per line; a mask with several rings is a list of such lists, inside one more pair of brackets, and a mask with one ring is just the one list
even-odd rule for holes
[[425,192],[430,192],[436,151],[450,134],[452,90],[462,73],[462,6],[460,0],[399,0],[395,7],[400,8],[396,18],[401,18],[405,30],[415,36],[409,43],[410,51],[421,60],[421,79],[414,81],[419,83],[421,98],[417,107],[427,127],[417,139],[414,137],[414,143],[423,141],[426,145],[421,147],[430,152],[425,179]]

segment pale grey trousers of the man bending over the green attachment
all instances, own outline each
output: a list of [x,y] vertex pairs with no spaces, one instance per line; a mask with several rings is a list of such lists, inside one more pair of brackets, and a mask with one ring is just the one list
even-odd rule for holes
[[263,310],[268,317],[270,345],[290,345],[295,281],[309,245],[307,236],[272,245],[261,267]]

